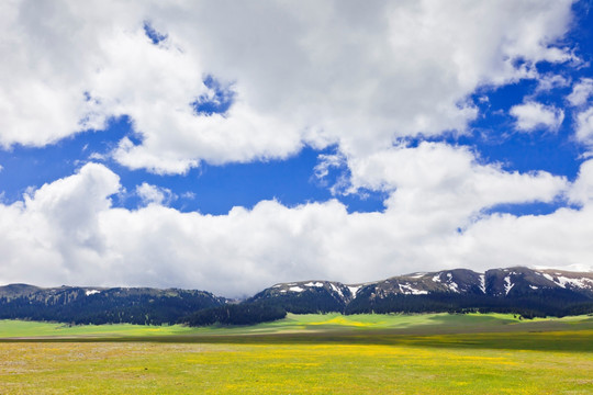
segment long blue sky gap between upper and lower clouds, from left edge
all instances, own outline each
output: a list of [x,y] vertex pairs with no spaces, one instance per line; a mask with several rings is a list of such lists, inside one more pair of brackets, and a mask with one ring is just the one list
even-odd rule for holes
[[[13,147],[0,151],[2,172],[0,180],[4,203],[22,200],[29,189],[67,177],[89,161],[91,153],[108,154],[123,136],[134,136],[128,120],[122,117],[109,123],[105,131],[85,132],[56,144],[41,147]],[[335,147],[314,149],[303,147],[286,160],[266,160],[249,163],[211,166],[204,162],[198,169],[182,174],[155,174],[146,170],[130,170],[110,158],[101,159],[121,177],[127,193],[113,199],[114,206],[135,210],[144,206],[134,193],[136,185],[148,182],[170,191],[168,205],[182,212],[226,214],[234,206],[253,207],[262,200],[277,200],[294,206],[307,202],[339,199],[350,212],[383,210],[383,193],[360,191],[355,194],[332,194],[329,188],[347,169],[337,169],[326,180],[314,174],[317,157],[334,153]],[[98,159],[94,159],[98,160]]]

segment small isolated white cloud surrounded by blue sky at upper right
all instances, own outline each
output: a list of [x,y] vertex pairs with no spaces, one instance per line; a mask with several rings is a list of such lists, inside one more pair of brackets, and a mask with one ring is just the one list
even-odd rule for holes
[[537,128],[557,131],[564,121],[562,110],[533,101],[512,106],[510,113],[517,119],[516,128],[523,132]]

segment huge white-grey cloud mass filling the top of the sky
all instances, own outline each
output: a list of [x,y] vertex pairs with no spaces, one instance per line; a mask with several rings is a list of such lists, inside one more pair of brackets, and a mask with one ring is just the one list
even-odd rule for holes
[[[463,131],[477,87],[534,78],[571,1],[2,2],[0,144],[42,146],[128,115],[139,145],[123,165],[182,173],[212,163],[286,158],[338,143],[349,157],[394,137]],[[153,45],[144,21],[167,38]],[[233,26],[233,29],[228,29]],[[516,66],[516,59],[524,63]],[[190,103],[233,84],[225,116]]]

